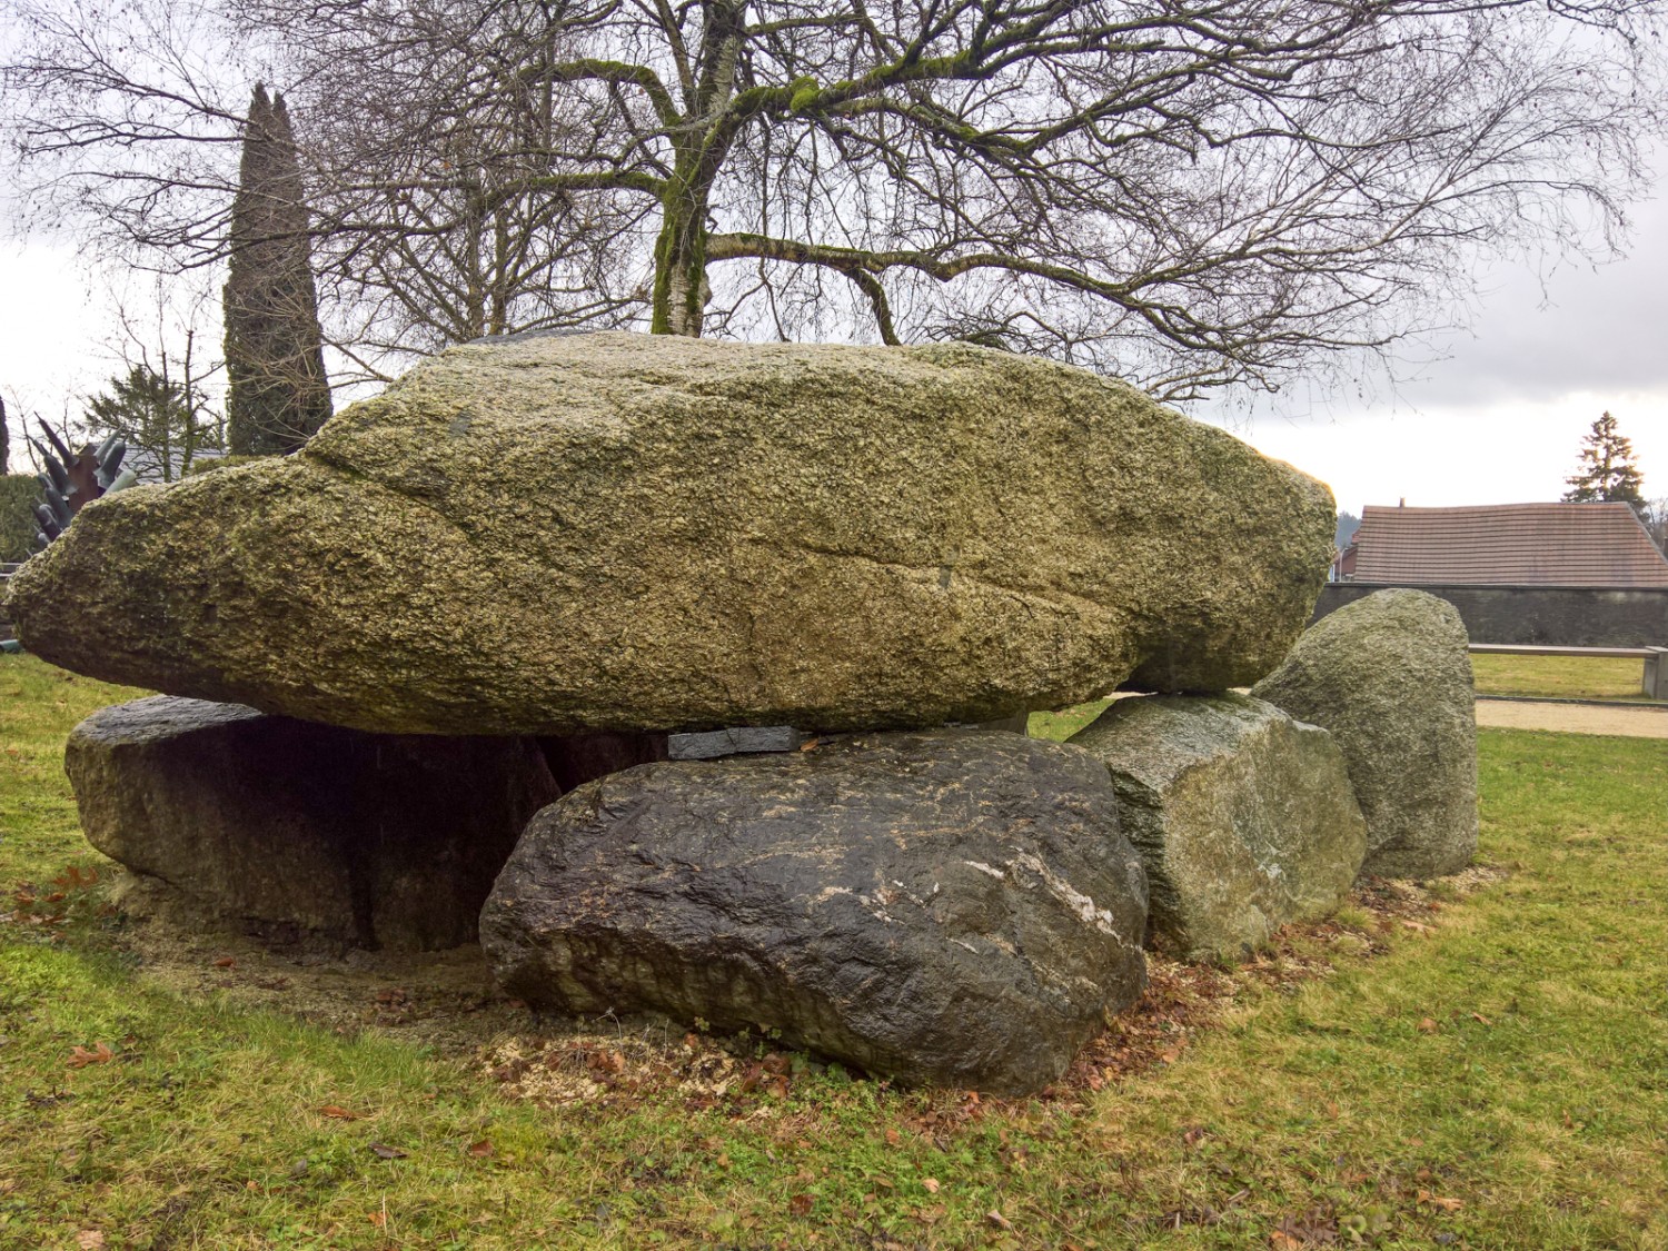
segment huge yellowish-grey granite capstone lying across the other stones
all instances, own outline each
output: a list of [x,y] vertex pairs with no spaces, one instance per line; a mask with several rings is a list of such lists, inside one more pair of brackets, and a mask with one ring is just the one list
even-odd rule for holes
[[365,731],[982,722],[1256,681],[1329,492],[966,345],[455,347],[299,455],[122,492],[12,580],[43,659]]

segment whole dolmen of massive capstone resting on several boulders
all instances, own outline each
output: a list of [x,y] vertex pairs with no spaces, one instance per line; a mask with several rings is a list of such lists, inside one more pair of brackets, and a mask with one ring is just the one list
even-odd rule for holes
[[[1027,1093],[1146,949],[1236,959],[1475,846],[1475,759],[1396,774],[1421,716],[1471,752],[1463,629],[1374,595],[1346,661],[1308,647],[1333,527],[1323,484],[1066,365],[522,335],[87,507],[8,609],[165,692],[68,771],[88,839],[200,904]],[[1413,689],[1316,676],[1396,649]],[[1073,742],[1012,732],[1113,691],[1144,694]]]

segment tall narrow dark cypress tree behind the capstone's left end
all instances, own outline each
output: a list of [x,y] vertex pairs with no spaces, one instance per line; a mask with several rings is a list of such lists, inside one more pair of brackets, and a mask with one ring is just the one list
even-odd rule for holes
[[257,85],[232,200],[225,282],[227,442],[294,452],[330,417],[302,172],[284,97]]

